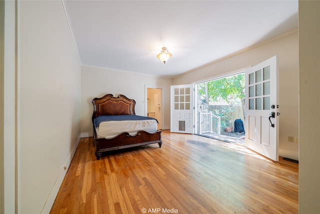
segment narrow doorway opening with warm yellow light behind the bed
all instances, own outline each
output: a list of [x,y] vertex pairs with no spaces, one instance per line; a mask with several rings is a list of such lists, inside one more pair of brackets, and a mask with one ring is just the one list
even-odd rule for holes
[[146,116],[157,119],[157,129],[162,129],[162,89],[146,89]]

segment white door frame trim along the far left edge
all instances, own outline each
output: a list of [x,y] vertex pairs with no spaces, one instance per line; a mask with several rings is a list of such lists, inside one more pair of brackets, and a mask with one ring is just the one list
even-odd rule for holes
[[[16,1],[0,1],[0,212],[19,213],[18,53],[16,53]],[[5,12],[5,13],[3,13]],[[4,16],[2,15],[4,14]],[[3,18],[3,20],[2,20]],[[19,52],[19,51],[18,51]],[[4,57],[5,56],[5,57]],[[15,206],[17,204],[17,206]]]

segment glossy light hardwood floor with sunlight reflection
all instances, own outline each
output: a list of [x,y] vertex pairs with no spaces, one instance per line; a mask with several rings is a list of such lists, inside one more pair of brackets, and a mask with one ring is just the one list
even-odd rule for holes
[[96,160],[82,138],[50,213],[298,213],[298,164],[243,146],[162,132]]

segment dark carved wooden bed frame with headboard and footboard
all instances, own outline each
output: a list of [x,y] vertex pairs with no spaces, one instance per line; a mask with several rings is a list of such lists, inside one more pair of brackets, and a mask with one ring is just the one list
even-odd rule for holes
[[[124,95],[113,97],[112,94],[106,94],[101,98],[94,98],[92,100],[92,104],[92,124],[93,119],[100,115],[135,114],[135,101],[133,99],[128,99]],[[96,159],[100,159],[101,153],[105,151],[147,145],[151,143],[158,143],[159,147],[161,147],[162,145],[160,130],[157,130],[154,133],[138,131],[134,136],[130,136],[128,132],[123,132],[114,138],[104,139],[97,138],[97,134],[93,124],[93,137]]]

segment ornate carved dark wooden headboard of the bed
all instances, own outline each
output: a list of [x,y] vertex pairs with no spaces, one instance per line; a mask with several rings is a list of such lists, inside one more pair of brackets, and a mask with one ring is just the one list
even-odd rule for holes
[[94,98],[92,104],[92,120],[101,115],[135,114],[135,101],[122,94],[117,97],[113,97],[112,94],[106,94],[101,98]]

